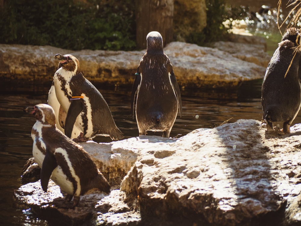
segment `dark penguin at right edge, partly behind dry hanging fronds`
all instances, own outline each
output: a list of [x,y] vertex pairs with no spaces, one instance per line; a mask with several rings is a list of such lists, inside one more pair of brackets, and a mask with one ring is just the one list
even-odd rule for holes
[[283,132],[301,106],[300,30],[292,27],[283,35],[266,69],[261,88],[262,119],[274,130],[273,122],[283,122]]

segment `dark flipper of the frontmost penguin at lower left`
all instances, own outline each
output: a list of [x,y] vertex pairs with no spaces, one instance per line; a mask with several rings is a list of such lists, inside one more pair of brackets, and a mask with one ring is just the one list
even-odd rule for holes
[[53,154],[46,150],[46,155],[43,160],[41,169],[41,186],[47,192],[48,182],[51,177],[52,171],[57,167],[57,162]]

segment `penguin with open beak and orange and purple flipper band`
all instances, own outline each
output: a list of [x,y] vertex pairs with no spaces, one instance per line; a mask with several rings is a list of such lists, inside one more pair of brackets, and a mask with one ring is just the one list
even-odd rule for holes
[[96,135],[110,136],[112,140],[122,139],[123,133],[116,127],[107,102],[83,76],[76,57],[57,54],[54,58],[59,62],[53,77],[55,96],[61,110],[67,112],[63,123],[65,135],[71,138],[75,125],[81,131],[73,139],[78,143]]

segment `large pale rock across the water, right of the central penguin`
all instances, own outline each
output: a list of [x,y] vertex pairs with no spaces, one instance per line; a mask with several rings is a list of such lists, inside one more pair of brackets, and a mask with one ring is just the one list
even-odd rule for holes
[[[252,44],[247,46],[253,47]],[[266,67],[249,62],[247,58],[237,57],[237,52],[242,54],[243,49],[229,53],[196,44],[172,42],[164,51],[169,56],[177,80],[180,80],[182,86],[235,87],[243,81],[261,79],[265,75]],[[246,54],[250,56],[249,53]],[[260,60],[261,58],[258,61]]]

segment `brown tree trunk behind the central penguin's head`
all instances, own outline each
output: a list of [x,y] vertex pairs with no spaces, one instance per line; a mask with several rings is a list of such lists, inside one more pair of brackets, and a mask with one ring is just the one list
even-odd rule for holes
[[146,49],[146,36],[151,31],[162,35],[163,46],[172,42],[174,0],[136,0],[136,42]]

